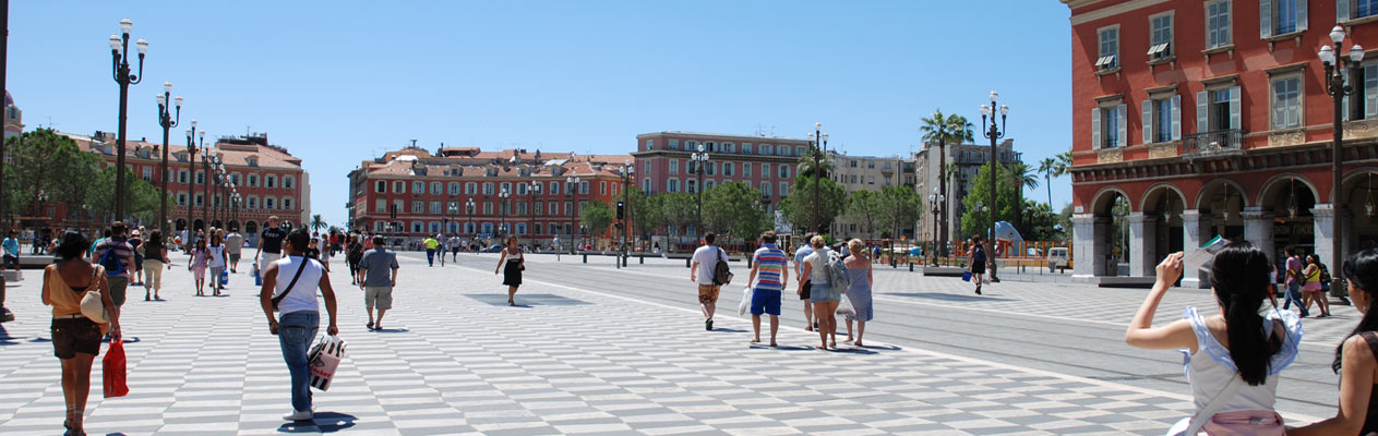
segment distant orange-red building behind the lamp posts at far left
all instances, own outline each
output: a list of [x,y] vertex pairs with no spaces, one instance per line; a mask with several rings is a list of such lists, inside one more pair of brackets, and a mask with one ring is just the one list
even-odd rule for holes
[[[102,168],[116,165],[116,136],[112,132],[94,135],[61,133],[73,139],[83,151],[95,153]],[[216,188],[214,172],[207,191],[207,165],[200,147],[194,166],[185,144],[168,146],[168,220],[171,228],[203,230],[207,224],[245,232],[256,242],[258,232],[269,216],[278,216],[284,224],[305,226],[310,221],[310,180],[302,160],[285,147],[267,142],[267,133],[226,136],[215,140],[207,153],[219,157],[229,180],[243,198],[237,208],[227,205],[225,190]],[[125,165],[136,177],[161,187],[163,144],[147,140],[125,140]],[[156,223],[141,223],[154,227]]]

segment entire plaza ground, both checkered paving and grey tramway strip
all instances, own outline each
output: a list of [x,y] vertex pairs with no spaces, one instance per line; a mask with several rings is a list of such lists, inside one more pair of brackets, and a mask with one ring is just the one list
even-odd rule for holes
[[[1192,410],[1177,352],[1123,344],[1144,290],[1007,281],[977,297],[955,278],[878,265],[871,344],[817,351],[792,298],[781,347],[748,344],[734,285],[706,331],[678,260],[616,270],[612,257],[531,254],[518,307],[507,307],[496,254],[427,268],[424,253],[404,252],[382,331],[364,329],[362,293],[335,259],[349,355],[331,391],[316,392],[316,421],[284,422],[288,374],[248,268],[227,296],[193,297],[185,257],[174,261],[165,301],[131,287],[131,392],[101,399],[94,388],[91,433],[1162,435]],[[733,264],[739,279],[743,268]],[[18,320],[0,334],[4,435],[61,429],[40,283],[26,271],[8,289]],[[1173,289],[1159,323],[1186,305],[1214,312],[1204,290]],[[1305,320],[1277,389],[1288,424],[1334,410],[1328,363],[1355,315],[1337,305],[1331,319]]]

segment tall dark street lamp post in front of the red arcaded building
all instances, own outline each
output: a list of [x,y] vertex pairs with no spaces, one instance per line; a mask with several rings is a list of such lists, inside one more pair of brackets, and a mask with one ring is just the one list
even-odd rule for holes
[[[1331,210],[1331,223],[1330,223],[1330,235],[1331,235],[1331,238],[1330,238],[1330,241],[1331,241],[1331,253],[1330,253],[1330,265],[1331,267],[1330,267],[1330,271],[1335,271],[1335,272],[1339,272],[1339,274],[1333,274],[1331,275],[1331,281],[1333,282],[1330,283],[1330,289],[1331,289],[1330,293],[1333,296],[1339,296],[1341,298],[1344,298],[1345,297],[1344,287],[1342,287],[1344,286],[1344,281],[1341,279],[1341,276],[1344,275],[1344,268],[1341,265],[1344,264],[1345,256],[1344,256],[1344,253],[1341,253],[1342,245],[1341,245],[1341,239],[1339,239],[1339,235],[1342,234],[1339,231],[1339,226],[1341,226],[1339,187],[1341,187],[1341,183],[1344,183],[1344,180],[1341,177],[1342,176],[1342,173],[1341,173],[1342,168],[1341,166],[1342,166],[1342,162],[1344,162],[1344,158],[1345,158],[1345,154],[1344,154],[1345,153],[1345,150],[1344,150],[1344,139],[1345,139],[1344,122],[1345,122],[1345,120],[1344,120],[1342,116],[1344,116],[1344,110],[1345,110],[1345,106],[1344,106],[1345,105],[1344,103],[1345,102],[1345,96],[1346,95],[1353,95],[1356,89],[1355,89],[1355,87],[1352,87],[1352,85],[1349,85],[1349,84],[1345,83],[1345,56],[1339,56],[1338,55],[1339,54],[1339,44],[1345,41],[1345,28],[1337,25],[1334,29],[1331,29],[1330,30],[1330,41],[1335,43],[1335,48],[1330,48],[1330,45],[1324,45],[1324,47],[1320,48],[1320,61],[1322,61],[1322,63],[1326,65],[1326,94],[1330,95],[1331,100],[1334,100],[1334,105],[1335,105],[1334,111],[1333,111],[1334,116],[1335,116],[1335,120],[1334,120],[1335,142],[1331,144],[1331,151],[1330,151],[1330,155],[1331,155],[1331,171],[1330,171],[1330,175],[1333,177],[1331,179],[1331,187],[1330,187],[1330,191],[1333,193],[1331,197],[1330,197],[1330,206],[1333,209]],[[1359,69],[1360,69],[1360,62],[1363,62],[1363,59],[1364,59],[1364,48],[1360,47],[1359,44],[1355,44],[1355,47],[1349,48],[1349,56],[1348,58],[1350,61],[1349,65],[1348,65],[1349,70],[1350,70],[1349,73],[1350,73],[1350,76],[1356,76],[1357,77]]]

